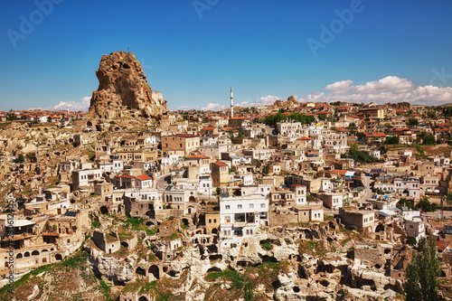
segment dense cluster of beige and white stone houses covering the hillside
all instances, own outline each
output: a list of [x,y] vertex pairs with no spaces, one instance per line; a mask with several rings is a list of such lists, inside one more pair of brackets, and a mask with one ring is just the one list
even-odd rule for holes
[[[389,136],[399,137],[402,146],[419,143],[425,134],[440,140],[450,133],[446,118],[373,103],[306,103],[285,110],[286,118],[275,127],[263,122],[278,111],[253,107],[235,117],[178,111],[135,136],[120,127],[99,135],[99,121],[75,122],[74,146],[93,156],[61,158],[58,186],[42,187],[24,202],[23,216],[14,221],[20,234],[14,239],[16,267],[71,254],[83,240],[92,210],[152,224],[189,217],[204,233],[218,235],[221,248],[240,245],[262,228],[319,222],[328,215],[375,240],[427,235],[420,210],[398,203],[414,205],[447,193],[450,154],[421,157],[412,147],[381,146]],[[297,122],[290,118],[293,112],[314,121]],[[16,113],[39,122],[83,118],[67,112]],[[355,144],[375,165],[350,154]],[[88,200],[89,206],[76,207],[74,200]],[[5,222],[0,216],[0,237]]]

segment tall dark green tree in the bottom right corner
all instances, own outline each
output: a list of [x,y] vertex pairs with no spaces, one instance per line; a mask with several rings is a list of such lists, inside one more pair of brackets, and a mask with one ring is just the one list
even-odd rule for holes
[[421,238],[418,251],[413,251],[413,259],[405,271],[403,288],[407,301],[438,300],[440,272],[435,240]]

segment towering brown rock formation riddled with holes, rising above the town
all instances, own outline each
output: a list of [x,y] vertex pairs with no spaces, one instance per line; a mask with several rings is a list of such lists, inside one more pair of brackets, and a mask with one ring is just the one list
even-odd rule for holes
[[89,113],[95,118],[129,115],[159,118],[168,112],[160,92],[147,84],[143,68],[133,52],[102,55],[96,71],[99,88],[92,92]]

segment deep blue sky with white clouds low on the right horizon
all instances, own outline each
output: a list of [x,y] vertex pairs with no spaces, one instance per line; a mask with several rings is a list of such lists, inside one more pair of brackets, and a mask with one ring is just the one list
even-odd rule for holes
[[0,29],[0,110],[86,107],[118,50],[170,109],[227,106],[231,86],[241,105],[452,102],[448,0],[3,1]]

